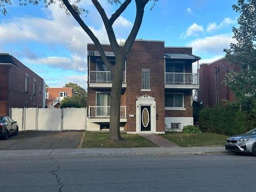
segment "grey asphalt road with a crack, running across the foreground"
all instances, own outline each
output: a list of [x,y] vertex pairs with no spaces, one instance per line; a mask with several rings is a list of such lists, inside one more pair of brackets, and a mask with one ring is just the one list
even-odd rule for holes
[[256,158],[68,156],[0,158],[0,191],[255,191]]

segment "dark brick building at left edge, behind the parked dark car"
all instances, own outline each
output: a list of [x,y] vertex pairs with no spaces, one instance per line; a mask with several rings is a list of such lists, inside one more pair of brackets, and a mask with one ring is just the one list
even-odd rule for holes
[[0,53],[0,116],[9,108],[43,108],[45,82],[22,62],[8,53]]

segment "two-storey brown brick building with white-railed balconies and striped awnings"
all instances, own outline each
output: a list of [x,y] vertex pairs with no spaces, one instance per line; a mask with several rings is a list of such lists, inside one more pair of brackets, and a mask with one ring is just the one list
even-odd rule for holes
[[[110,45],[106,56],[115,62]],[[135,40],[123,72],[120,130],[128,133],[181,131],[193,124],[193,90],[199,89],[191,47],[164,47],[164,41]],[[111,72],[94,44],[88,44],[88,130],[108,129]]]

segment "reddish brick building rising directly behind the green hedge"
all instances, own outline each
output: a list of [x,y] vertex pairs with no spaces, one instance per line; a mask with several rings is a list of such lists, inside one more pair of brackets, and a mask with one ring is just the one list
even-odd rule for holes
[[226,73],[230,70],[239,70],[239,67],[230,65],[225,57],[211,63],[201,63],[199,68],[198,101],[203,101],[204,106],[215,106],[222,100],[233,101],[233,92],[223,82]]

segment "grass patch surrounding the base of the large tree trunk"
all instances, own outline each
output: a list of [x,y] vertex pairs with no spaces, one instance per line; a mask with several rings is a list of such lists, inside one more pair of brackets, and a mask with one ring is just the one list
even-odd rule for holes
[[130,148],[130,147],[157,147],[150,140],[147,140],[139,135],[121,134],[123,141],[114,144],[108,140],[109,132],[88,132],[83,139],[82,148]]

